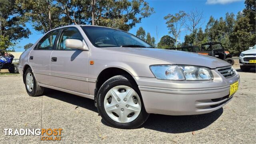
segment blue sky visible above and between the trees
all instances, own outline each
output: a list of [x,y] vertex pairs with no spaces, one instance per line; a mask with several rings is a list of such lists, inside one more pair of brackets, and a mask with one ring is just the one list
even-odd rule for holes
[[[151,36],[156,38],[156,26],[158,27],[158,40],[164,35],[168,34],[168,29],[166,27],[166,20],[164,16],[167,14],[175,14],[180,10],[189,12],[192,9],[203,10],[204,11],[204,24],[202,28],[204,29],[210,16],[215,19],[220,17],[225,17],[226,12],[233,12],[235,15],[244,9],[244,0],[148,0],[147,1],[151,7],[154,8],[155,13],[149,18],[142,19],[140,24],[136,24],[129,32],[136,34],[136,31],[140,26],[144,28],[146,32],[150,32]],[[30,24],[27,24],[32,34],[28,39],[22,39],[19,44],[16,45],[16,52],[24,51],[23,46],[28,43],[33,43],[38,40],[42,34],[36,32]],[[187,30],[183,30],[180,35],[180,41],[184,41],[184,36],[190,34]]]

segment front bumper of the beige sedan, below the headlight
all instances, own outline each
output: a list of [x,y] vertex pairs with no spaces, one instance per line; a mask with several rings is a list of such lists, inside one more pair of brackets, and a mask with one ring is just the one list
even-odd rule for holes
[[204,114],[218,110],[232,99],[230,84],[239,81],[236,74],[225,78],[212,70],[211,81],[165,81],[134,77],[148,113],[166,115]]

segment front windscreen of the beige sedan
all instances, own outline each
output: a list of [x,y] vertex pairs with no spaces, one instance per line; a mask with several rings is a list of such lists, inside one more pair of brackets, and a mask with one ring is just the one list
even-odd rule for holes
[[140,38],[113,28],[82,26],[90,42],[96,47],[143,47],[152,48]]

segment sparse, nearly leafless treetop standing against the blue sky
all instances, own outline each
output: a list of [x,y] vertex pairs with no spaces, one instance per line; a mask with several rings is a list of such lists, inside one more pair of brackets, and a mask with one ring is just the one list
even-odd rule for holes
[[188,23],[185,24],[185,26],[190,32],[195,32],[196,28],[201,26],[204,18],[203,12],[204,11],[190,10],[190,12],[187,14]]

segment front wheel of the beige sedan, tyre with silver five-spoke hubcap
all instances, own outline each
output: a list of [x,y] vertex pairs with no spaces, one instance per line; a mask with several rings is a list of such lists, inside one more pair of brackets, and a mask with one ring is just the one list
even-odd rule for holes
[[138,128],[148,119],[138,86],[129,76],[114,76],[100,87],[97,108],[112,127]]

